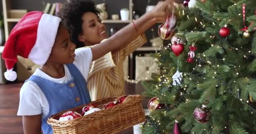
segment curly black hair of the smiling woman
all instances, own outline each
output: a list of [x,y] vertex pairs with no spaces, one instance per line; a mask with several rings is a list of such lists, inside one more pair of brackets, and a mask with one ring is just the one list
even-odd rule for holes
[[77,48],[84,46],[83,42],[78,40],[78,35],[83,33],[82,17],[87,12],[95,13],[97,16],[101,13],[92,0],[68,0],[59,14],[63,24],[67,26],[71,41]]

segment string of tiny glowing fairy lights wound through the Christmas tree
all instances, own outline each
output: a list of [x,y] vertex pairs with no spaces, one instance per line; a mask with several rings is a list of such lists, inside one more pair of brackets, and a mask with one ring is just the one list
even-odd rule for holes
[[[232,6],[236,6],[237,4],[233,4]],[[177,7],[178,8],[178,10],[179,10],[179,6]],[[202,9],[201,9],[202,10]],[[185,12],[184,12],[184,10],[179,10],[179,15],[181,15],[181,12],[182,12],[182,15],[185,15]],[[219,11],[218,11],[219,12]],[[241,15],[241,14],[238,14],[238,15]],[[187,16],[187,19],[190,19],[189,18],[189,15],[186,15]],[[218,21],[221,21],[220,19],[217,19]],[[201,31],[201,30],[205,30],[205,25],[202,23],[202,22],[200,22],[200,21],[198,21],[198,19],[197,19],[197,17],[195,17],[195,22],[197,22],[197,23],[200,23],[200,25],[202,26],[202,28],[199,30],[199,31]],[[230,18],[228,18],[228,22],[231,22],[231,19]],[[212,22],[212,24],[213,24],[213,26],[216,26],[216,24],[214,23],[214,22]],[[196,30],[197,28],[195,27],[193,30]],[[198,33],[199,33],[199,31],[197,31]],[[185,32],[187,32],[187,30],[185,30]],[[190,32],[195,32],[195,31],[190,31]],[[184,33],[185,34],[185,33]],[[179,33],[177,33],[177,35],[179,35]],[[212,39],[214,39],[215,38],[215,35],[211,35],[210,36],[210,38],[212,38]],[[224,41],[223,40],[221,40],[223,43],[225,43],[226,41],[227,41],[227,38],[226,39],[224,39]],[[221,44],[221,41],[219,42],[219,44]],[[216,46],[216,45],[214,45],[214,44],[211,44],[211,46],[212,47],[217,47],[218,49],[222,49],[222,47],[221,46]],[[235,51],[237,51],[237,52],[240,52],[240,53],[242,53],[243,54],[243,57],[244,58],[247,58],[247,56],[250,56],[250,55],[253,55],[252,54],[252,52],[251,51],[248,51],[247,53],[244,53],[242,50],[243,50],[243,47],[241,47],[241,49],[238,49],[237,47],[234,47],[234,46],[232,46],[232,45],[230,45],[230,44],[228,44],[228,46],[229,46],[229,50],[235,50]],[[170,45],[168,45],[168,47],[163,47],[163,46],[161,46],[160,47],[160,51],[163,51],[164,49],[166,50],[166,49],[169,49],[170,48]],[[158,55],[161,57],[161,55],[160,55],[160,53],[158,53]],[[201,55],[203,56],[203,58],[201,57]],[[214,72],[214,76],[212,77],[213,79],[215,78],[215,79],[222,79],[222,77],[221,77],[221,74],[219,74],[218,73],[218,68],[220,67],[220,65],[219,64],[215,64],[215,65],[213,65],[213,63],[209,60],[210,58],[207,58],[207,56],[205,55],[205,54],[198,54],[198,59],[196,59],[196,66],[193,68],[193,70],[192,70],[192,72],[191,73],[193,73],[195,70],[197,70],[197,68],[198,67],[202,67],[203,65],[202,65],[202,62],[203,63],[205,63],[205,64],[208,64],[209,65],[209,67],[211,67],[212,69],[214,69],[215,70],[215,72]],[[233,70],[235,70],[236,71],[236,75],[238,76],[238,75],[243,75],[242,73],[240,73],[240,72],[238,72],[237,71],[237,69],[238,68],[240,68],[241,66],[240,65],[237,65],[237,66],[235,66],[235,65],[230,65],[230,64],[227,64],[226,62],[225,62],[225,58],[222,58],[222,59],[217,59],[218,60],[218,62],[220,62],[220,63],[222,63],[222,64],[225,64],[225,65],[227,65],[227,66],[229,66],[231,69],[233,69]],[[160,62],[158,59],[155,59],[155,61],[154,62]],[[160,64],[159,64],[160,65]],[[173,68],[175,68],[175,67],[173,67]],[[160,78],[159,78],[159,80],[160,80],[160,83],[159,83],[159,85],[156,85],[155,87],[158,89],[158,88],[162,88],[162,91],[161,91],[161,95],[164,95],[164,96],[166,96],[165,94],[163,94],[164,93],[164,91],[166,90],[166,89],[168,89],[168,90],[170,90],[170,87],[173,87],[171,84],[170,84],[170,80],[168,80],[168,77],[166,77],[166,75],[168,74],[168,72],[165,70],[165,67],[162,67],[162,68],[160,68],[160,70],[163,70],[163,72],[162,72],[162,75],[160,76]],[[203,74],[197,74],[197,75],[203,75]],[[216,75],[218,75],[218,77],[216,76]],[[187,75],[187,74],[185,74],[184,73],[184,75],[182,76],[182,77],[188,77],[189,78],[189,80],[194,80],[194,78],[195,78],[195,76],[194,77],[190,77],[189,75]],[[206,78],[204,77],[203,78],[204,80],[206,80]],[[247,78],[246,77],[246,79],[249,79],[249,78]],[[233,81],[234,83],[236,82],[235,80]],[[179,101],[175,104],[175,105],[172,105],[171,107],[167,107],[166,106],[166,111],[162,111],[162,113],[163,114],[166,114],[166,112],[168,111],[168,110],[171,110],[172,108],[174,108],[174,107],[176,107],[181,101],[184,101],[183,100],[183,97],[184,97],[184,99],[185,99],[185,101],[186,102],[188,102],[189,101],[189,99],[187,99],[186,98],[186,96],[185,96],[185,93],[186,93],[186,88],[188,88],[188,85],[184,85],[184,87],[182,87],[182,84],[184,83],[184,81],[182,81],[181,82],[181,85],[180,86],[178,86],[179,87],[179,89],[175,89],[177,92],[179,92],[180,93],[180,99],[179,99]],[[168,88],[165,88],[165,87],[163,87],[162,85],[163,84],[167,84],[168,85]],[[200,83],[199,82],[197,82],[197,85],[200,85]],[[221,85],[223,85],[223,83],[221,83],[220,85],[216,85],[216,87],[219,87],[219,86],[221,86]],[[251,112],[251,114],[253,114],[253,113],[256,113],[256,109],[255,108],[253,108],[253,107],[251,107],[250,105],[248,105],[248,103],[250,102],[249,100],[243,100],[242,98],[241,98],[241,96],[240,96],[240,89],[237,89],[237,94],[235,94],[233,91],[232,91],[232,89],[230,89],[229,88],[229,86],[227,86],[227,88],[228,88],[228,90],[224,90],[224,93],[230,93],[230,94],[232,94],[235,98],[237,98],[238,100],[240,100],[241,101],[241,103],[243,103],[243,104],[247,104],[247,106],[250,108],[249,110],[250,110],[250,112]],[[181,91],[181,89],[183,89],[183,91]],[[189,93],[188,93],[189,94]],[[156,95],[156,94],[155,94]],[[173,96],[173,99],[175,99],[176,98],[176,96],[174,95]],[[155,121],[155,118],[152,118],[152,116],[147,116],[147,123],[146,123],[146,125],[147,126],[153,126],[154,128],[155,128],[155,133],[154,134],[158,134],[158,133],[161,133],[161,131],[159,131],[158,130],[158,127],[159,127],[159,125],[161,124],[161,122],[158,120],[157,122]],[[141,125],[141,127],[143,127],[143,125]],[[227,126],[224,126],[224,128],[222,129],[222,130],[224,130],[224,129],[227,129],[228,127]],[[211,129],[209,130],[209,132],[210,132],[210,134],[211,134],[211,132],[212,132],[212,130],[213,130],[213,126],[211,126]],[[164,132],[164,131],[163,131]],[[206,129],[204,129],[204,133],[206,133]],[[203,134],[204,134],[203,133]],[[195,134],[195,132],[192,132],[192,134]]]

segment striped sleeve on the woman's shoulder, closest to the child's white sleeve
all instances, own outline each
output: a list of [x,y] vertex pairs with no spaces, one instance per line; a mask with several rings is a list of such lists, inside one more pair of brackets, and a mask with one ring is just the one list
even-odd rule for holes
[[96,59],[91,62],[88,79],[93,76],[96,72],[101,70],[107,70],[111,67],[115,67],[115,62],[112,58],[111,52],[105,54],[103,57]]

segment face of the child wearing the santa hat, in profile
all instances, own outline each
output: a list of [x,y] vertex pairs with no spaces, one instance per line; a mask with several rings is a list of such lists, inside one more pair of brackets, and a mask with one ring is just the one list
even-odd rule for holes
[[75,61],[75,44],[70,41],[68,30],[61,25],[47,62],[53,64],[70,64]]

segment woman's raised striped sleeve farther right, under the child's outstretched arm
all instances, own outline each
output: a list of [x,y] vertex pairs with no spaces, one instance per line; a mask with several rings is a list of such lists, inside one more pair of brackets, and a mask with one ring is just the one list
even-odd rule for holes
[[124,57],[127,57],[129,54],[134,52],[139,47],[143,46],[147,42],[145,34],[141,34],[137,39],[132,41],[128,46],[126,46],[122,51],[124,52]]

